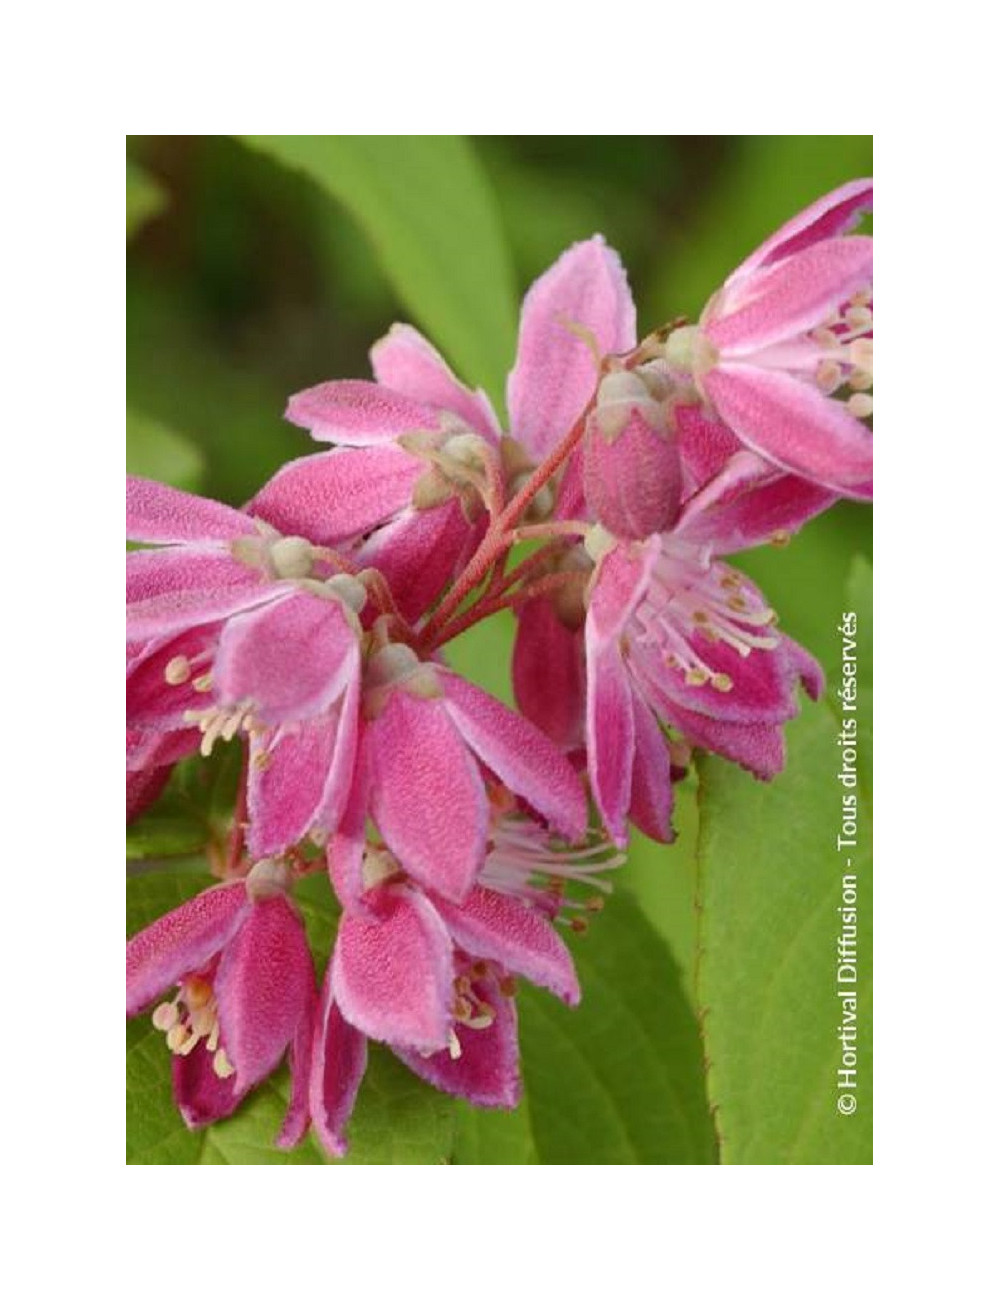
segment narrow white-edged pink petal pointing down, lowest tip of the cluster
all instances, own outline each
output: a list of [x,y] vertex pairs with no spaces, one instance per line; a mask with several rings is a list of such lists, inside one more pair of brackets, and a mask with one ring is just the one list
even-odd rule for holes
[[368,1040],[341,1015],[326,968],[312,1044],[309,1114],[316,1136],[332,1156],[347,1154],[345,1128],[368,1063]]

